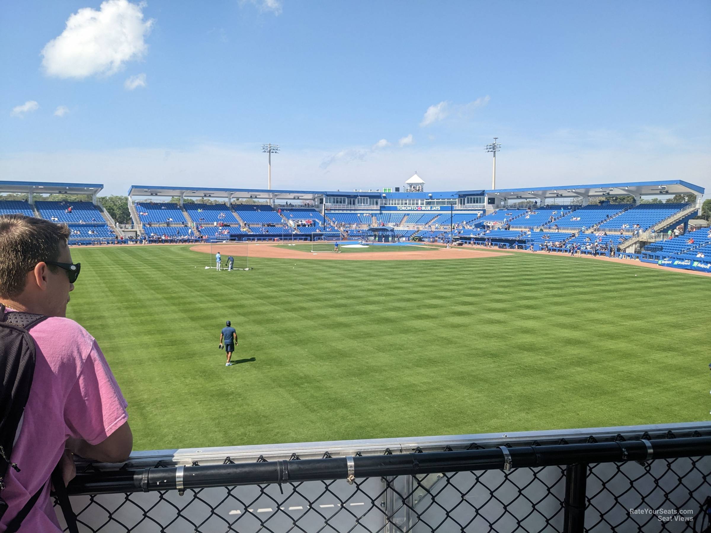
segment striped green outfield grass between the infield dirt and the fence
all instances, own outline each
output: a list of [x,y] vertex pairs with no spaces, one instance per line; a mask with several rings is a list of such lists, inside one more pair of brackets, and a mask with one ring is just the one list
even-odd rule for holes
[[189,247],[72,253],[68,315],[104,350],[135,449],[710,419],[705,276],[553,254],[223,273]]

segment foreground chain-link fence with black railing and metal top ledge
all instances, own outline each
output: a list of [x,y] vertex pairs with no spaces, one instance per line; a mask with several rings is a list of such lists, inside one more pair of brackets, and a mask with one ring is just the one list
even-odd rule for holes
[[142,452],[85,532],[708,532],[711,424]]

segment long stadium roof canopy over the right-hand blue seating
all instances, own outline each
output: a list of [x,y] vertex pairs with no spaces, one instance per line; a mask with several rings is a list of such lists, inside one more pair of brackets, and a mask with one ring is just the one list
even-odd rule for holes
[[594,185],[557,185],[555,187],[523,187],[517,189],[493,189],[486,191],[488,196],[498,196],[506,200],[622,195],[702,195],[703,193],[703,187],[681,180],[630,181],[626,183],[596,183]]

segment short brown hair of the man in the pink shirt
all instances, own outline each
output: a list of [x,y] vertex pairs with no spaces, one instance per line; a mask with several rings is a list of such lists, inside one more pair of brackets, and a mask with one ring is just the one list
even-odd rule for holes
[[[0,216],[0,298],[25,289],[27,273],[36,264],[56,261],[69,239],[69,227],[25,215]],[[56,271],[56,267],[49,266]]]

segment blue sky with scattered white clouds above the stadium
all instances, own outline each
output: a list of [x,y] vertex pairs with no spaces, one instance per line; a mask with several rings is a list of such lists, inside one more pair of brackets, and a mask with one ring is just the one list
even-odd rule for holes
[[0,49],[0,179],[486,188],[496,135],[501,187],[711,188],[707,1],[23,1]]

